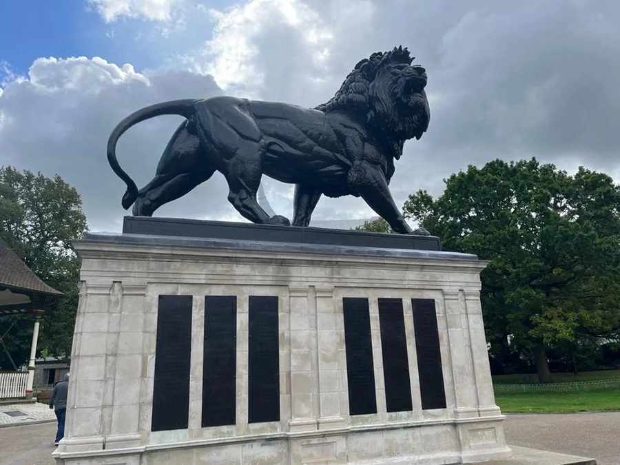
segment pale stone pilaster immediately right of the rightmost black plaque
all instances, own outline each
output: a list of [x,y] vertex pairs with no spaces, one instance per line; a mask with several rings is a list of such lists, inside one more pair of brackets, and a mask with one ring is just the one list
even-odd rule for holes
[[462,291],[444,290],[444,307],[455,395],[455,416],[457,418],[477,417],[476,382],[470,357],[471,349]]

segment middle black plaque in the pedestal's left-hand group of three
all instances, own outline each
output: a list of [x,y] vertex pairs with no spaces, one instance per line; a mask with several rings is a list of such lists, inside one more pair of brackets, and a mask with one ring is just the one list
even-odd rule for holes
[[205,297],[203,427],[235,424],[237,298]]

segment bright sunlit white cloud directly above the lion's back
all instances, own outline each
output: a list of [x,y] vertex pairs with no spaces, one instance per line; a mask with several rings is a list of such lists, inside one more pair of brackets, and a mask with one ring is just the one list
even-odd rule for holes
[[[333,58],[359,46],[371,31],[375,8],[369,0],[326,5],[320,11],[302,0],[251,0],[228,10],[211,9],[212,37],[194,52],[192,62],[231,94],[316,105],[320,102],[310,99],[326,88],[325,95],[333,94],[339,84],[332,81]],[[347,72],[354,64],[345,65]]]

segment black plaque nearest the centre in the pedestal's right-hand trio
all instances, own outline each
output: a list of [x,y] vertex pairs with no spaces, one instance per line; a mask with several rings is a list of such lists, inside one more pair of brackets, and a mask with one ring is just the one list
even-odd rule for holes
[[377,413],[368,299],[345,297],[342,299],[342,307],[349,382],[349,414]]

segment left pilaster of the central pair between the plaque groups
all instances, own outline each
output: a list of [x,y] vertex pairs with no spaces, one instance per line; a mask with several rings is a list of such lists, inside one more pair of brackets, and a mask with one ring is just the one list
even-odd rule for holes
[[[313,409],[313,353],[312,327],[316,328],[316,315],[311,311],[309,287],[289,286],[289,340],[291,348],[291,420],[289,431],[314,431],[317,429]],[[313,303],[314,304],[314,303]],[[316,330],[315,330],[316,332]]]

